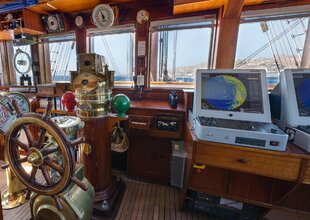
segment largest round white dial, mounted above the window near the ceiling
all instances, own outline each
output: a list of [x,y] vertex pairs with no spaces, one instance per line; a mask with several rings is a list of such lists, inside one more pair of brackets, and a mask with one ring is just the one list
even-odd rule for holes
[[109,28],[114,23],[113,9],[107,4],[97,5],[92,13],[94,24],[99,28]]

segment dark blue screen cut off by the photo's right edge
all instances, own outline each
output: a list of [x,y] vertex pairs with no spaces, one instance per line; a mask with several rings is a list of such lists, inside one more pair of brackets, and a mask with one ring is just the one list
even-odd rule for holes
[[310,74],[295,73],[293,81],[299,116],[310,117]]

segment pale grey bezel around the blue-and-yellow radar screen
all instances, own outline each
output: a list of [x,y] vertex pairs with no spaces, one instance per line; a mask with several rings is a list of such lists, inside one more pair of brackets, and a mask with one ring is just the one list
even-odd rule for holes
[[[236,111],[222,111],[201,108],[201,75],[207,74],[242,74],[242,73],[259,73],[261,76],[263,113],[248,113]],[[271,123],[270,105],[268,97],[267,77],[265,70],[236,70],[236,69],[198,69],[195,75],[195,91],[194,91],[194,114],[196,117],[204,116],[211,118],[222,118],[242,121],[256,121]]]

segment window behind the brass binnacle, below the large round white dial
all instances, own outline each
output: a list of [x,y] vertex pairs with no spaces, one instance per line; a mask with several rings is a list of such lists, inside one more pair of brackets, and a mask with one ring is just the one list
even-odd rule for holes
[[114,70],[115,86],[130,87],[134,72],[134,25],[121,25],[88,32],[90,52],[103,55],[109,70]]

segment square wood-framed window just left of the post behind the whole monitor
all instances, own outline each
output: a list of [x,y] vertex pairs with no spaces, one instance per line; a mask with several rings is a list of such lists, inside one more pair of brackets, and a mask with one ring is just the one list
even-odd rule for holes
[[196,69],[211,66],[214,22],[213,16],[151,22],[151,87],[193,87]]

